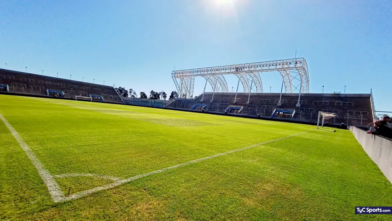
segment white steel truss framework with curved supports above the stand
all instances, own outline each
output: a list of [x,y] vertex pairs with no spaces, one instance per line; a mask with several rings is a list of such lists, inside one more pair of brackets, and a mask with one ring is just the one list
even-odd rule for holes
[[240,79],[244,92],[250,91],[252,81],[256,88],[255,92],[262,93],[260,73],[271,71],[278,71],[281,74],[286,93],[309,93],[309,72],[305,58],[177,70],[172,72],[172,78],[180,97],[192,98],[195,77],[204,77],[210,83],[213,92],[229,92],[223,75],[234,74]]

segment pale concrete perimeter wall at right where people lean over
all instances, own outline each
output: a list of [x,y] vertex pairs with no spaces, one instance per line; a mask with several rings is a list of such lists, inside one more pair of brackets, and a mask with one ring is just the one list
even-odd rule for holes
[[354,126],[350,126],[350,131],[367,155],[392,183],[392,141],[381,136],[367,134],[366,131]]

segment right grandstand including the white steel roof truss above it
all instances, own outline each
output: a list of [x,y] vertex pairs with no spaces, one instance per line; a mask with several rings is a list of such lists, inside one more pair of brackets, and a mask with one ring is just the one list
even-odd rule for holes
[[[262,72],[279,73],[283,93],[263,93]],[[237,76],[238,85],[242,84],[244,92],[238,93],[237,85],[237,92],[229,93],[224,75]],[[192,99],[195,77],[205,78],[205,85],[209,83],[214,92],[203,92]],[[309,71],[305,58],[175,70],[172,78],[180,99],[169,103],[166,108],[309,123],[316,123],[318,112],[322,111],[336,114],[326,122],[332,125],[368,125],[375,119],[371,92],[309,93]]]

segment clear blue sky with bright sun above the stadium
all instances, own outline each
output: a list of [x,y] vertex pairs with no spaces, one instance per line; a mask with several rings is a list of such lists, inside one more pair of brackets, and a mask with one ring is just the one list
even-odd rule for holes
[[[0,0],[0,66],[169,94],[174,67],[287,59],[297,50],[310,92],[373,88],[376,109],[392,110],[391,0],[226,1]],[[279,73],[261,78],[265,92],[280,92]],[[227,81],[235,90],[237,79]],[[194,95],[204,83],[196,78]]]

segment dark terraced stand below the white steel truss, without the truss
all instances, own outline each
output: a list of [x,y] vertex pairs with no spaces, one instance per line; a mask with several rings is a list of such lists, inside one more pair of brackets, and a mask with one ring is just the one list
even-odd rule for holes
[[[196,104],[203,103],[201,110],[210,112],[226,111],[264,118],[289,118],[293,121],[311,123],[317,122],[318,111],[324,111],[338,115],[329,122],[327,121],[333,125],[340,123],[368,125],[374,119],[371,94],[301,94],[299,102],[298,97],[299,94],[282,94],[280,98],[280,93],[251,93],[249,96],[249,93],[205,92],[204,95],[195,99],[178,99],[167,105],[167,108],[192,109]],[[241,111],[233,112],[232,107]],[[276,114],[278,110],[281,113],[290,114]]]

